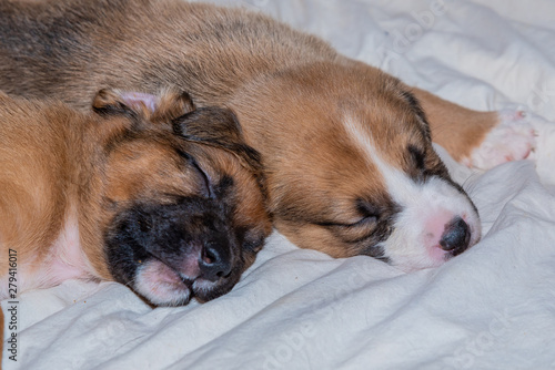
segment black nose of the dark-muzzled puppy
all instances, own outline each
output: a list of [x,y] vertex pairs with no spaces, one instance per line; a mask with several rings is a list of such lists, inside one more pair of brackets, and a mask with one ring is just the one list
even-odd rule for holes
[[202,249],[199,267],[203,279],[215,281],[231,273],[231,254],[225,243],[209,241]]

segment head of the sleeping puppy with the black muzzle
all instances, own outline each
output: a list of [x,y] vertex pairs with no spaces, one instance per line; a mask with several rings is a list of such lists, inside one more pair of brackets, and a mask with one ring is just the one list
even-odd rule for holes
[[[258,153],[234,114],[194,110],[186,94],[103,90],[105,260],[154,305],[228,292],[271,230]],[[212,134],[218,130],[219,134]]]

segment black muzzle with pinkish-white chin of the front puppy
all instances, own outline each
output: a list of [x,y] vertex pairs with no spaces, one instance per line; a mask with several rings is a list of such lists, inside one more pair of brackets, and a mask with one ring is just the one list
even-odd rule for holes
[[203,302],[233,288],[245,267],[242,229],[233,208],[190,197],[170,204],[137,204],[107,232],[107,258],[115,281],[154,306]]

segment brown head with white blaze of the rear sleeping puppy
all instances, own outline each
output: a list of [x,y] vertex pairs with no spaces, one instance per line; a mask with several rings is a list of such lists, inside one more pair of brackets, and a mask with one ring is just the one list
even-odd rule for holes
[[296,245],[413,270],[478,240],[476,208],[396,79],[321,63],[278,72],[244,93],[240,119],[262,122],[256,137],[272,137],[259,147],[275,225]]

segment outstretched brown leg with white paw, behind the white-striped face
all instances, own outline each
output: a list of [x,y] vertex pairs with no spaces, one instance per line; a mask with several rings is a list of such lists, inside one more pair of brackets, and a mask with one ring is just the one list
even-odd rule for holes
[[524,160],[535,148],[535,132],[523,111],[477,112],[412,91],[427,115],[432,140],[467,166],[487,169]]

